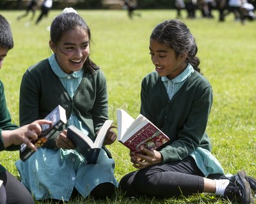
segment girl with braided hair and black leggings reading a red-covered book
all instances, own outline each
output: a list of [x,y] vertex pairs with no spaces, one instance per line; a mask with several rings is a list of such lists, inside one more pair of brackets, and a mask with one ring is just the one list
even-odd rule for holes
[[205,192],[253,203],[245,171],[227,179],[211,154],[205,129],[212,88],[200,73],[197,49],[195,38],[179,20],[165,20],[154,28],[149,52],[156,71],[141,83],[140,113],[169,136],[170,142],[154,151],[141,147],[146,156],[131,152],[131,161],[139,170],[125,175],[120,188],[129,196]]

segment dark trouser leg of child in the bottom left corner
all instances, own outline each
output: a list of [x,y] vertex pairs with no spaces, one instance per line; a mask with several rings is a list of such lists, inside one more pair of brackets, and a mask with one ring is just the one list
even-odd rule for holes
[[20,181],[11,173],[9,173],[8,171],[1,172],[0,180],[3,180],[3,184],[0,187],[0,204],[34,203],[34,200],[28,189],[26,189],[26,187],[22,183],[20,183]]

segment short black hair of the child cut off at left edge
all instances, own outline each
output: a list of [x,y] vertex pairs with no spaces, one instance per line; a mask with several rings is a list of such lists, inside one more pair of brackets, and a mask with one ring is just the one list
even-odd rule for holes
[[0,47],[8,48],[8,50],[13,48],[11,27],[3,15],[0,15]]

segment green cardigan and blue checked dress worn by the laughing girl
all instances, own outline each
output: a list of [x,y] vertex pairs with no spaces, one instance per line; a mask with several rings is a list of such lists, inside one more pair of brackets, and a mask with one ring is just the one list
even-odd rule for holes
[[[100,69],[84,68],[68,75],[55,55],[29,68],[20,87],[20,124],[44,118],[57,105],[67,112],[67,126],[74,125],[95,140],[95,133],[108,119],[106,78]],[[22,183],[36,200],[68,201],[74,188],[84,197],[99,184],[117,186],[115,162],[100,150],[96,164],[86,164],[76,150],[56,149],[54,137],[29,157],[17,161]]]

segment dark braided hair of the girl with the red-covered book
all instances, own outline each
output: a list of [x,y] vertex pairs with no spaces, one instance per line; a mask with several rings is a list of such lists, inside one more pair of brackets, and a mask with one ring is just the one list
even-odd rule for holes
[[188,54],[186,62],[200,73],[200,60],[196,57],[196,41],[186,24],[180,20],[164,20],[156,25],[150,39],[163,43],[175,51],[176,57],[184,53]]

